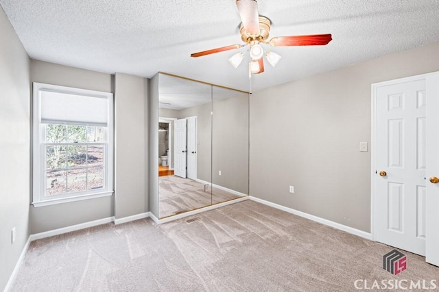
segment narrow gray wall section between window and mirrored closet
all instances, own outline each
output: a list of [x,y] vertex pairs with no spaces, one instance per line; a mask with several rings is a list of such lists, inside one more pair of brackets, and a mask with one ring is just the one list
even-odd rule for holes
[[149,211],[147,180],[147,80],[115,75],[115,217]]

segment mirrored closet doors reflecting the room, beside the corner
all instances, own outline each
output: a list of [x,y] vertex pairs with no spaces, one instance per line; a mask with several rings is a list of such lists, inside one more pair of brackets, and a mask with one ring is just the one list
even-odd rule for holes
[[[235,90],[213,88],[212,85],[169,75],[159,79],[158,109],[158,213],[159,217],[178,215],[194,209],[226,202],[248,195],[248,94]],[[214,94],[215,93],[215,94]],[[241,98],[237,95],[241,94]],[[227,101],[230,98],[230,101]],[[224,101],[222,101],[224,100]],[[215,103],[213,103],[215,101]],[[213,105],[217,113],[213,113]],[[222,105],[222,106],[219,106]],[[232,108],[242,106],[243,108]],[[227,108],[227,107],[230,108]],[[215,127],[213,115],[227,120],[228,114],[239,116],[239,125],[233,125],[233,119],[223,124],[223,137],[213,137]],[[247,117],[247,118],[246,118]],[[226,129],[224,127],[233,127]],[[237,130],[244,139],[235,139]],[[233,137],[235,142],[227,141]],[[241,161],[235,158],[223,159],[215,165],[224,172],[222,181],[215,178],[213,183],[213,141],[219,151],[240,149]],[[221,146],[224,144],[223,146]],[[237,144],[241,144],[238,146]],[[244,146],[244,147],[243,147]],[[245,148],[245,150],[242,150]],[[235,152],[237,152],[235,150]],[[237,168],[237,165],[241,165]],[[244,170],[244,171],[243,171]],[[215,170],[218,174],[218,171]],[[217,177],[217,175],[215,175]],[[239,183],[236,183],[239,179]],[[219,185],[217,183],[221,183]],[[239,191],[228,187],[239,187]],[[228,187],[224,187],[228,186]]]

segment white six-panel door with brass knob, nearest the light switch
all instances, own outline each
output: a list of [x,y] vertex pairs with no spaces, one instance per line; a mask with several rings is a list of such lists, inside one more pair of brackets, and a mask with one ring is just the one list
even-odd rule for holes
[[425,77],[375,96],[375,239],[425,255]]

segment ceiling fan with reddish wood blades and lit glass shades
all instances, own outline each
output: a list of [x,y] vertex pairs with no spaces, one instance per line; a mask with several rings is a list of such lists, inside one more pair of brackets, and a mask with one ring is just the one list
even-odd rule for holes
[[[258,4],[256,0],[236,0],[239,16],[241,16],[240,34],[245,44],[233,44],[226,47],[220,47],[207,51],[201,51],[191,54],[191,57],[202,57],[239,49],[241,47],[250,47],[250,62],[248,65],[248,74],[259,74],[264,71],[263,55],[272,65],[275,66],[281,56],[272,51],[263,51],[261,44],[268,44],[272,47],[281,46],[321,46],[331,42],[331,34],[316,34],[309,36],[276,36],[267,40],[270,34],[271,21],[265,16],[259,16]],[[244,59],[244,53],[239,52],[230,57],[228,61],[233,67],[237,68]]]

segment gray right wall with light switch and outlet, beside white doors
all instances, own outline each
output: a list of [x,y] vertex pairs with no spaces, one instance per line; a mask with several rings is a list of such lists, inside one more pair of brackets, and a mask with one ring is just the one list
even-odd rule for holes
[[370,85],[438,70],[436,42],[254,92],[250,195],[370,232]]

